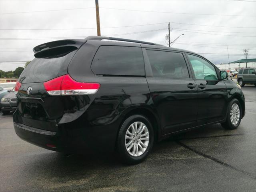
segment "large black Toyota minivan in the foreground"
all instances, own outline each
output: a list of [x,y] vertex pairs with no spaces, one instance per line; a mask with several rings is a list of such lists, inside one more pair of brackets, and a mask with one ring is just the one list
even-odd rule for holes
[[116,150],[135,164],[154,141],[208,124],[235,129],[245,115],[240,86],[194,52],[101,36],[33,51],[15,86],[14,128],[49,150]]

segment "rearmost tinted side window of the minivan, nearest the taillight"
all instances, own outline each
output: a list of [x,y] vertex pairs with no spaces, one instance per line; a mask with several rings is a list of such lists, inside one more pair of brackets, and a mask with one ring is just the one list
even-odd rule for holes
[[144,76],[140,47],[100,46],[92,61],[92,71],[101,75]]

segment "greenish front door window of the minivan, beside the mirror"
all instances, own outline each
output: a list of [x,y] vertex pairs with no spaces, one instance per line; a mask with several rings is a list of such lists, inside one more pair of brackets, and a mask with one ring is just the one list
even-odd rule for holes
[[206,60],[188,54],[188,59],[192,65],[196,79],[218,80],[214,66]]

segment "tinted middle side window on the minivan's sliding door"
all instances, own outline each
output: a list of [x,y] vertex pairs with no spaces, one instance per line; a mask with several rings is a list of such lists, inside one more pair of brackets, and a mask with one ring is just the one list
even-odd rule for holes
[[182,53],[146,50],[153,76],[158,78],[189,78]]

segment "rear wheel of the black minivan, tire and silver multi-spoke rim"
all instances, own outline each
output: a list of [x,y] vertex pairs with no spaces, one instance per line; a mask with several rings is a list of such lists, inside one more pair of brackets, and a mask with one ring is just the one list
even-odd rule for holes
[[123,122],[117,138],[117,150],[122,162],[142,162],[150,153],[153,144],[154,130],[148,118],[132,115]]

